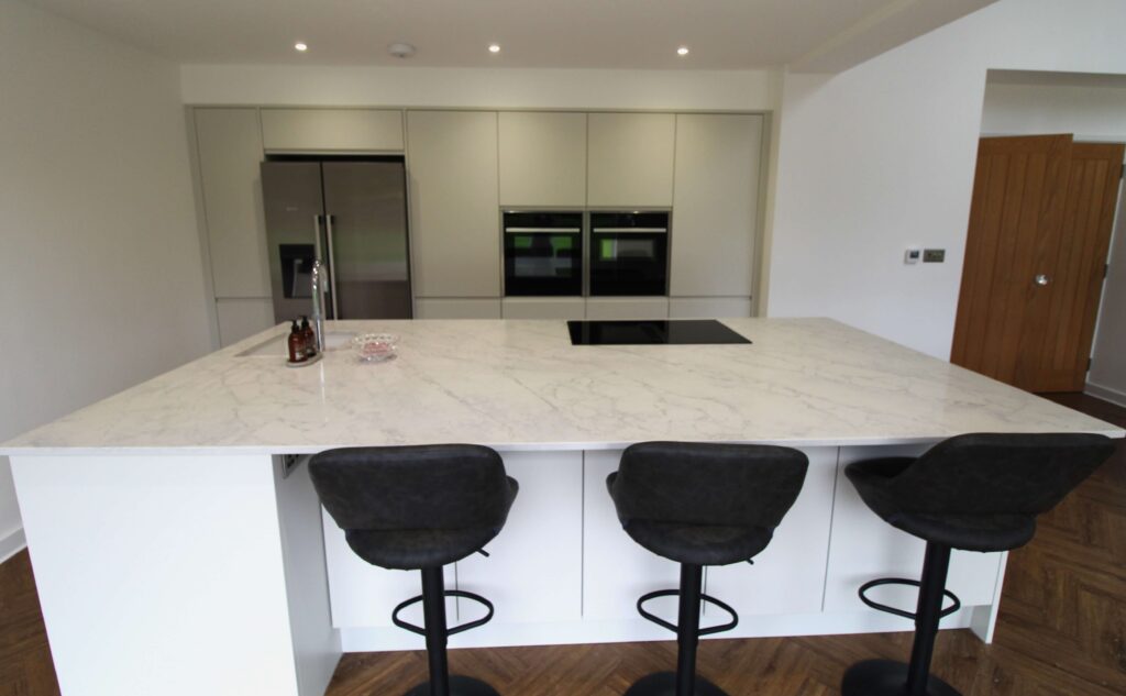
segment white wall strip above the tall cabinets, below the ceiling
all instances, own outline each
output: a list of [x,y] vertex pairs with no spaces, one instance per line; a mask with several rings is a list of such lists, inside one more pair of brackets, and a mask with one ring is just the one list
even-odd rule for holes
[[191,105],[769,110],[766,70],[184,65]]

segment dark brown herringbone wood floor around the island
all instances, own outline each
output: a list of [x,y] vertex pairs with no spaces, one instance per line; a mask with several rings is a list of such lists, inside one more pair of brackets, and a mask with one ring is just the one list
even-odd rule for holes
[[[1126,409],[1081,394],[1053,399],[1126,426]],[[910,633],[704,641],[699,672],[732,696],[830,696],[852,662],[910,650]],[[617,696],[671,669],[674,655],[668,641],[455,650],[449,661],[502,694]],[[994,643],[944,631],[933,671],[967,696],[1126,694],[1126,444],[1010,555]],[[351,653],[328,694],[397,696],[425,678],[423,652]],[[24,552],[0,565],[0,695],[57,693]]]

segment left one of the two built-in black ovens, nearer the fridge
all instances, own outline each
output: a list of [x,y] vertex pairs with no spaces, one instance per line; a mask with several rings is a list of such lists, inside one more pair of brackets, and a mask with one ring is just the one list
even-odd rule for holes
[[504,294],[582,295],[582,213],[506,211]]

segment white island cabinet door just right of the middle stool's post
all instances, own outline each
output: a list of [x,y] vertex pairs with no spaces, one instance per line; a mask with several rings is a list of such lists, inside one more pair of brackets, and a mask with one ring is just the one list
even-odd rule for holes
[[[837,447],[803,449],[810,469],[802,492],[754,564],[707,569],[704,590],[741,615],[816,614],[825,583],[825,556],[837,479]],[[722,612],[705,607],[705,625]]]

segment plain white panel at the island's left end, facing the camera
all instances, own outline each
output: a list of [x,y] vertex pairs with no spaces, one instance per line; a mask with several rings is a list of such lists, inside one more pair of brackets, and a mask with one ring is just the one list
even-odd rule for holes
[[12,457],[65,696],[305,696],[271,464]]

